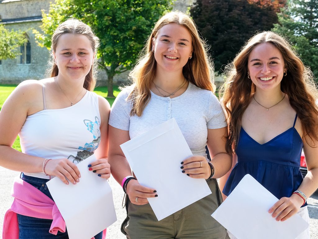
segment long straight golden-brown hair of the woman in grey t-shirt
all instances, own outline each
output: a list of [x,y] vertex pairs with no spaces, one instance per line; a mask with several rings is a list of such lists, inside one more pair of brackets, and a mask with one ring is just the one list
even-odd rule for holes
[[213,68],[207,54],[207,46],[199,36],[195,23],[188,15],[182,12],[169,12],[157,21],[134,69],[129,73],[129,78],[134,83],[132,85],[133,90],[128,96],[128,99],[132,100],[133,103],[131,115],[141,116],[150,99],[150,87],[156,75],[156,60],[152,52],[152,40],[156,38],[162,26],[170,23],[186,27],[192,38],[192,58],[183,67],[184,77],[197,87],[215,92]]

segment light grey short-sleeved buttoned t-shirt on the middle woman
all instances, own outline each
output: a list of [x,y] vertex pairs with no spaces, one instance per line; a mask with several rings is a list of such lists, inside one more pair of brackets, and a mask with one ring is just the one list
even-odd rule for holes
[[109,124],[129,131],[130,139],[175,118],[192,154],[206,157],[207,129],[227,126],[217,97],[192,83],[182,95],[172,99],[151,92],[140,117],[130,116],[131,102],[127,100],[130,92],[131,89],[126,88],[119,93],[109,116]]

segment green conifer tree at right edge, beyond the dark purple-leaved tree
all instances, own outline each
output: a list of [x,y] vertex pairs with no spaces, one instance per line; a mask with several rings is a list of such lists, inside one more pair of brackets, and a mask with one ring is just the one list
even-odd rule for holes
[[289,0],[273,31],[289,37],[302,61],[318,77],[318,0]]

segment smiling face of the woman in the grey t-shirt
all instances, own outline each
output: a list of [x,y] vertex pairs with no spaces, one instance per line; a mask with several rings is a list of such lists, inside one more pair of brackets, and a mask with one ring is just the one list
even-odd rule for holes
[[157,70],[181,71],[192,56],[192,40],[189,30],[183,25],[164,25],[153,39]]

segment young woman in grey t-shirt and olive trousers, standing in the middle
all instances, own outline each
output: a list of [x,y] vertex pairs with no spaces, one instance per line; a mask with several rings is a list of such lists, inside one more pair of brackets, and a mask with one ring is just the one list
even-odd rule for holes
[[[164,15],[130,73],[134,84],[113,104],[108,160],[114,178],[128,195],[128,216],[121,228],[127,238],[228,238],[226,229],[211,217],[222,202],[216,178],[230,170],[232,154],[225,147],[227,124],[213,94],[206,49],[191,18],[181,12]],[[158,221],[147,198],[160,197],[160,193],[130,176],[133,174],[120,145],[170,118],[176,119],[193,153],[181,162],[180,173],[206,179],[212,194]]]

